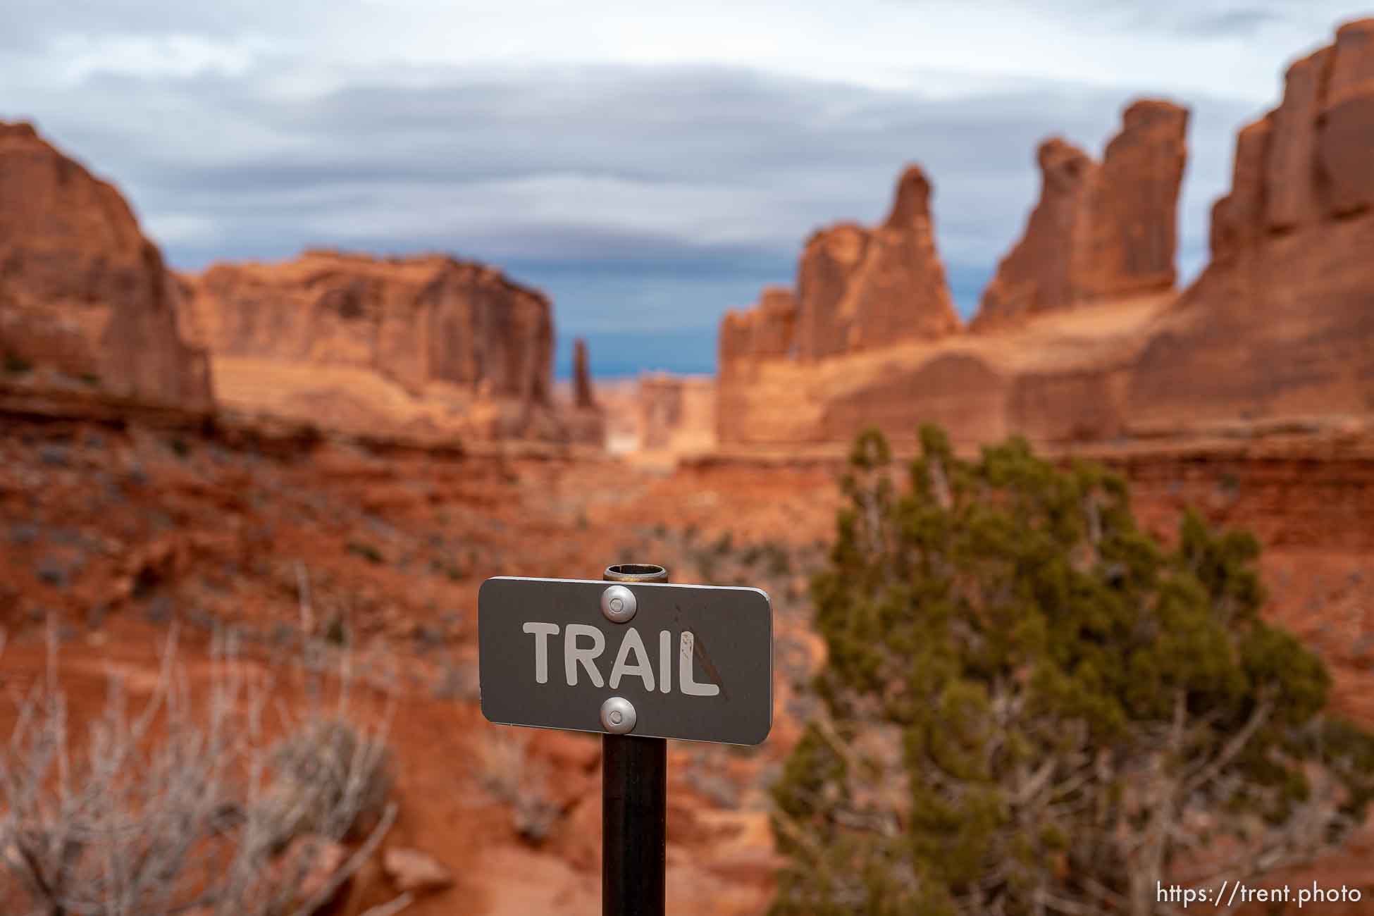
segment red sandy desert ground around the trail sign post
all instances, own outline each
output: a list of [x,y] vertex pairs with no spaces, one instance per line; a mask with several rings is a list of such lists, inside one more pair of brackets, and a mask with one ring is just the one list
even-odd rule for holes
[[[1113,460],[1162,537],[1183,505],[1259,533],[1268,614],[1333,666],[1336,707],[1374,724],[1374,461],[1359,449],[1304,448]],[[515,739],[519,791],[558,810],[543,838],[522,836],[499,791],[510,775],[492,764],[511,759],[492,748],[510,750],[522,729],[486,724],[475,702],[477,586],[496,574],[595,578],[628,560],[664,563],[676,581],[761,585],[778,617],[774,733],[757,750],[673,744],[668,849],[669,912],[760,913],[778,865],[767,786],[813,709],[797,689],[820,656],[805,577],[833,530],[837,472],[826,461],[273,449],[7,419],[4,677],[41,669],[49,615],[62,622],[63,683],[78,709],[99,705],[110,665],[144,672],[147,685],[170,621],[192,661],[203,661],[216,625],[251,633],[262,652],[341,626],[360,656],[393,659],[400,672],[401,816],[389,842],[423,849],[458,876],[407,912],[595,913],[599,744],[556,732]],[[1374,884],[1371,849],[1362,836],[1320,873]],[[379,875],[360,875],[349,912],[390,895]]]

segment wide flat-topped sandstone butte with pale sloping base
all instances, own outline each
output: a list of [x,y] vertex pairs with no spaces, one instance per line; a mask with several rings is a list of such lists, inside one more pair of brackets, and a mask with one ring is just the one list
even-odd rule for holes
[[491,266],[308,250],[183,282],[227,407],[344,430],[585,437],[554,404],[548,299]]

